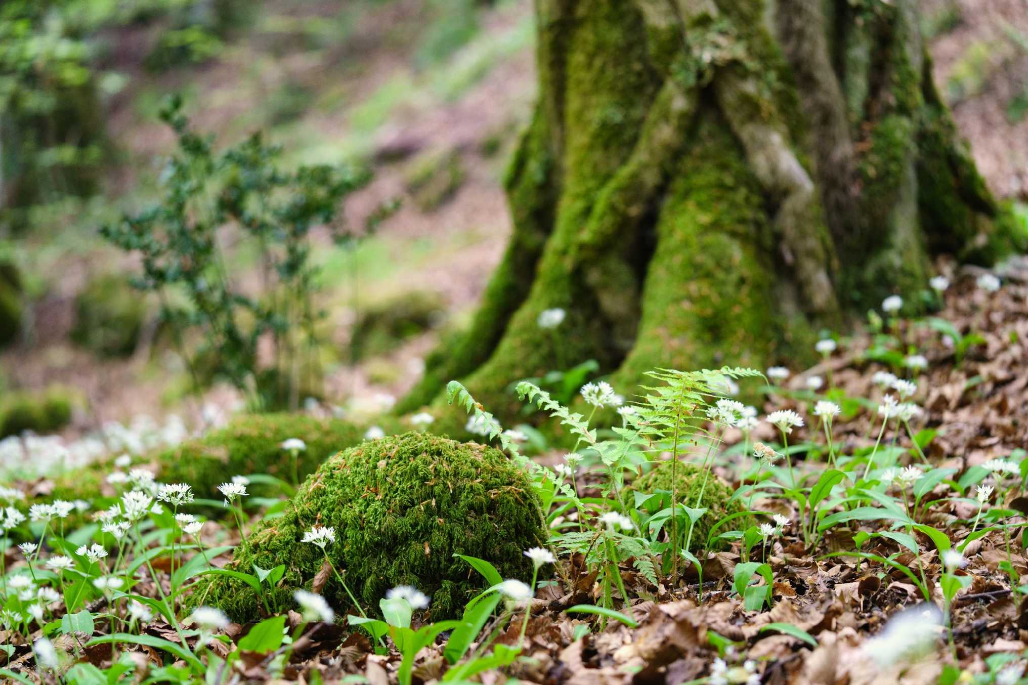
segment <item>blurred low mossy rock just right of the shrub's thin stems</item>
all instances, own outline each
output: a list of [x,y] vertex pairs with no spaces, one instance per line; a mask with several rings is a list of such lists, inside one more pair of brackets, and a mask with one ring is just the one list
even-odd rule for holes
[[351,338],[353,359],[383,355],[439,324],[442,298],[432,292],[408,292],[359,313]]

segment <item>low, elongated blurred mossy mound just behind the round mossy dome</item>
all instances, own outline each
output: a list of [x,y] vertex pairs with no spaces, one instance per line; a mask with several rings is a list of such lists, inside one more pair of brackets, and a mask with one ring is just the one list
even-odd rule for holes
[[[397,426],[380,424],[382,429]],[[141,457],[140,465],[156,467],[161,482],[185,482],[197,497],[220,499],[219,484],[233,475],[270,473],[284,480],[292,477],[292,461],[282,449],[289,438],[299,438],[307,448],[297,454],[300,478],[317,469],[335,453],[364,439],[364,428],[339,419],[316,419],[306,414],[241,414],[223,428],[186,440],[156,455]],[[56,483],[54,497],[91,499],[102,492],[102,477],[109,469],[89,468],[66,474]],[[260,493],[260,485],[253,485]]]

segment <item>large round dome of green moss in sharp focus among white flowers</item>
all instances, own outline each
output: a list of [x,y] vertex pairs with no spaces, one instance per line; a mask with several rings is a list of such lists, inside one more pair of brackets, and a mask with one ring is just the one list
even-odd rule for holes
[[[258,525],[233,567],[270,569],[285,564],[273,590],[292,606],[296,587],[309,587],[322,550],[302,541],[314,526],[335,529],[327,547],[335,567],[365,611],[377,612],[391,587],[414,585],[432,599],[433,619],[452,617],[485,582],[454,553],[477,556],[505,578],[527,579],[523,555],[545,541],[539,501],[527,474],[502,452],[428,433],[405,433],[364,442],[325,462],[307,478],[287,513]],[[324,594],[339,611],[352,608],[333,578]],[[226,577],[200,585],[194,602],[224,610],[233,620],[253,619],[253,590]]]

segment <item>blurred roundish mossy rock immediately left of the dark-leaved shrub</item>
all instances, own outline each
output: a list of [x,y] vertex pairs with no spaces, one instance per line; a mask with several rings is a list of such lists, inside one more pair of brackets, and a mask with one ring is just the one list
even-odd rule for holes
[[75,297],[72,339],[107,357],[131,355],[146,317],[146,297],[116,275],[90,280]]

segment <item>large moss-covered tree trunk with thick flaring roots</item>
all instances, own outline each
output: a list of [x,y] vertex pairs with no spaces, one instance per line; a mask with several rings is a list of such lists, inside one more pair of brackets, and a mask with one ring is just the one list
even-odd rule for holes
[[[596,359],[786,361],[822,326],[987,258],[997,208],[930,78],[914,0],[536,0],[539,102],[510,245],[401,403]],[[541,312],[566,319],[541,328]],[[508,414],[509,416],[509,414]]]

